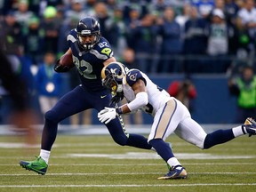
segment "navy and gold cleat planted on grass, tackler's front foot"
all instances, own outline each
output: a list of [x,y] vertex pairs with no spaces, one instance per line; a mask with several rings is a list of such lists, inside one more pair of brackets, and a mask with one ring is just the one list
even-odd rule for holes
[[174,180],[174,179],[186,179],[188,177],[188,172],[185,168],[178,165],[170,169],[170,171],[163,177],[157,178],[158,180]]

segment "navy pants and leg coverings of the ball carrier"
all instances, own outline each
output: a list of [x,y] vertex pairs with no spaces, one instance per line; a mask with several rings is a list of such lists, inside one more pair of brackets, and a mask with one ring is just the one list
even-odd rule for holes
[[[108,91],[88,92],[82,86],[77,86],[74,90],[68,92],[44,115],[45,123],[41,148],[51,150],[57,136],[60,121],[88,108],[95,108],[97,111],[100,111],[108,107],[110,100],[111,94]],[[145,137],[137,134],[130,134],[128,136],[124,132],[118,118],[112,120],[106,126],[113,140],[119,145],[145,149],[152,148]]]

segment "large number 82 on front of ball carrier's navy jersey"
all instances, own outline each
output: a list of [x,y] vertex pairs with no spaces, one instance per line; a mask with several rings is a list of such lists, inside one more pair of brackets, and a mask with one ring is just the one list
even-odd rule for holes
[[75,57],[75,65],[79,74],[84,76],[84,78],[97,79],[97,76],[92,74],[92,65],[89,62],[78,60],[78,58]]

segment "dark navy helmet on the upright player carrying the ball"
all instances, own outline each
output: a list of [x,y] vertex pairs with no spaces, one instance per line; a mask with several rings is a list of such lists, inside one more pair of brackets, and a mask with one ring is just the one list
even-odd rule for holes
[[93,17],[79,20],[76,26],[78,44],[89,51],[100,41],[100,23]]

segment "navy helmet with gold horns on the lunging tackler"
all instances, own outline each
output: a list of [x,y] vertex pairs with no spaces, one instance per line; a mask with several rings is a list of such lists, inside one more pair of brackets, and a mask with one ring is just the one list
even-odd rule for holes
[[111,90],[112,94],[123,92],[124,64],[111,62],[101,70],[102,85]]

